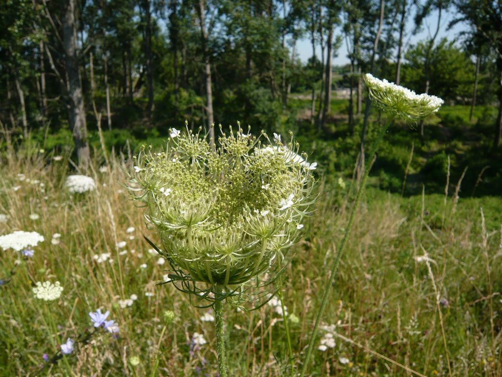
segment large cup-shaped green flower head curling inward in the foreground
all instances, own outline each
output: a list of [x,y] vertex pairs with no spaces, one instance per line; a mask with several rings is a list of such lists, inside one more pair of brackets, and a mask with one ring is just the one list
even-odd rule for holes
[[[171,129],[166,151],[143,148],[132,181],[135,199],[162,241],[172,281],[203,282],[189,293],[214,298],[281,269],[314,201],[316,163],[285,145],[231,128],[211,145],[205,135]],[[256,284],[255,284],[256,285]],[[210,295],[212,293],[212,295]]]

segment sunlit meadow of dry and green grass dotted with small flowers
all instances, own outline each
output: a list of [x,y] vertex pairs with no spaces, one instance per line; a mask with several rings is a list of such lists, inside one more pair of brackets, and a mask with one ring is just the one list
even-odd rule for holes
[[[340,147],[336,158],[325,157],[323,141],[302,140],[299,127],[302,148],[319,160],[319,200],[304,220],[301,241],[288,251],[290,263],[278,286],[284,308],[280,295],[255,311],[227,305],[232,376],[294,375],[284,318],[293,365],[301,368],[354,202],[355,160],[340,167],[341,159],[354,156]],[[406,195],[402,170],[394,173],[401,176],[394,178],[395,187],[383,186],[393,181],[392,164],[385,162],[392,140],[413,133],[399,125],[391,131],[379,155],[384,163],[375,162],[356,212],[308,375],[498,377],[500,196],[482,183],[478,190],[486,195],[463,195],[451,163],[444,175],[434,170],[437,178],[413,178],[417,182],[406,185]],[[6,143],[3,149],[0,233],[36,231],[44,241],[33,253],[1,251],[0,375],[218,375],[214,313],[196,307],[207,304],[200,298],[158,285],[169,280],[170,267],[145,240],[159,241],[125,186],[134,172],[131,147],[114,154],[96,148],[86,171],[72,163],[71,150],[41,147]],[[420,152],[418,147],[418,161]],[[406,161],[409,153],[404,148],[400,158]],[[379,172],[386,169],[391,178]],[[96,189],[68,193],[64,182],[75,172],[92,177]],[[464,184],[470,194],[472,179]],[[37,299],[38,281],[59,281],[60,298]],[[89,312],[97,309],[110,312],[118,332],[93,327]],[[76,342],[61,354],[69,338]]]

